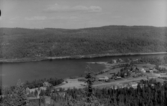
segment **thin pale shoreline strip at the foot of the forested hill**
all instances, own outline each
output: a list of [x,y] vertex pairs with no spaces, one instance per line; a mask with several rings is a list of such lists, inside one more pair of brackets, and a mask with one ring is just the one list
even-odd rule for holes
[[39,58],[15,58],[15,59],[0,59],[0,63],[17,63],[17,62],[35,62],[46,60],[63,60],[63,59],[91,59],[100,57],[117,57],[117,56],[137,56],[137,55],[166,55],[167,52],[149,52],[149,53],[106,53],[106,54],[90,54],[90,55],[75,55],[75,56],[56,56],[56,57],[39,57]]

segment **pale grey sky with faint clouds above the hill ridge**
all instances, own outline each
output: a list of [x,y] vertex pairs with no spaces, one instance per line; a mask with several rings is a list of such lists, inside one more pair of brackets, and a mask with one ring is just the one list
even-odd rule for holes
[[167,26],[167,0],[0,0],[0,27]]

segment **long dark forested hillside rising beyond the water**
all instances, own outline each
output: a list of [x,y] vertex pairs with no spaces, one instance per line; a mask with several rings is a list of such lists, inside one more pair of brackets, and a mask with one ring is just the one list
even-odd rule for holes
[[166,27],[0,28],[1,59],[165,51]]

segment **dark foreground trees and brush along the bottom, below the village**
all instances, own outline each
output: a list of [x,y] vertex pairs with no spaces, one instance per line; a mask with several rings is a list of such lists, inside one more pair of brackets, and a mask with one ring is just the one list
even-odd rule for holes
[[[22,86],[17,86],[13,90],[6,90],[3,101],[4,106],[27,103],[26,95]],[[47,91],[48,92],[48,91]],[[155,80],[140,81],[138,87],[119,89],[69,89],[65,96],[50,94],[52,105],[54,106],[166,106],[167,105],[167,82],[159,83]],[[54,94],[58,93],[54,91]],[[90,93],[91,92],[91,93]],[[11,97],[9,94],[13,94]],[[89,95],[90,94],[90,95]],[[45,95],[45,94],[44,94]],[[41,95],[41,104],[44,103]],[[89,97],[89,99],[88,99]],[[29,103],[29,106],[38,105],[38,101]],[[30,105],[31,104],[31,105]]]

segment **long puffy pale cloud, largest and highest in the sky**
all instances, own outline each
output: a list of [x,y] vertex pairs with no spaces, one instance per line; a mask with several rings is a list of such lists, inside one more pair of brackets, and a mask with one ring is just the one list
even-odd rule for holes
[[99,6],[67,6],[54,4],[49,6],[45,11],[49,12],[101,12],[102,8]]

